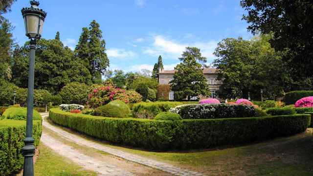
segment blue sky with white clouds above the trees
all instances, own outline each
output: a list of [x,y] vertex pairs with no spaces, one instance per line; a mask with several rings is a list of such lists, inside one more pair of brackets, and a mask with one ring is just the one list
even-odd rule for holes
[[[251,38],[240,0],[40,0],[48,14],[43,38],[61,40],[73,48],[83,27],[100,24],[107,43],[110,69],[151,69],[162,55],[165,69],[173,69],[186,46],[201,48],[208,63],[217,43],[227,37]],[[16,42],[24,44],[22,7],[18,0],[5,15],[13,25]]]

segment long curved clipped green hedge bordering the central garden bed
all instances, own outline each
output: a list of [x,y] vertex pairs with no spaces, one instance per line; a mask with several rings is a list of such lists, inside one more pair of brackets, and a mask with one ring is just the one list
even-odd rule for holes
[[309,114],[203,119],[148,120],[71,114],[51,109],[56,124],[117,144],[155,150],[203,149],[304,132]]

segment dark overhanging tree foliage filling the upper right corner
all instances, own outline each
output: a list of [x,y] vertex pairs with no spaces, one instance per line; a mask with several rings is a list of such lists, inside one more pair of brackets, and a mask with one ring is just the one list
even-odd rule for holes
[[313,1],[241,0],[241,6],[247,11],[243,19],[249,23],[248,30],[252,34],[273,33],[270,44],[287,52],[283,59],[295,82],[293,89],[312,88]]

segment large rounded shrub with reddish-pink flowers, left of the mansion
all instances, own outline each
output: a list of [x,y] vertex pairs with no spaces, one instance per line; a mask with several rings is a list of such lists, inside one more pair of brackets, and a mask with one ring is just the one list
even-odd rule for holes
[[94,88],[88,95],[87,104],[91,108],[98,108],[113,100],[121,100],[126,104],[129,103],[126,90],[112,86]]

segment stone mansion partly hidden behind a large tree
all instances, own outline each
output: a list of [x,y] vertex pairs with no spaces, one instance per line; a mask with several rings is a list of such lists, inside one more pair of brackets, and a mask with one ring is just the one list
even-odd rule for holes
[[[217,80],[218,74],[216,73],[216,68],[204,68],[203,74],[207,80],[207,84],[212,92],[212,98],[216,97],[216,91],[219,90],[220,86],[222,86],[222,81]],[[158,74],[158,83],[159,84],[169,84],[171,80],[173,80],[175,70],[160,70]],[[193,99],[196,99],[194,97]],[[170,91],[169,100],[174,100],[174,92]]]

